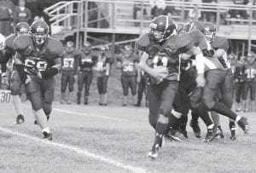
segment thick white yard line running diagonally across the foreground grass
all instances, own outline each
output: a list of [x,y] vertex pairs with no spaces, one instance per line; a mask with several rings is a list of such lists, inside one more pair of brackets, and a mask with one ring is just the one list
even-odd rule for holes
[[66,144],[61,144],[61,143],[55,142],[55,141],[44,141],[44,140],[42,140],[38,137],[34,137],[34,136],[26,135],[26,134],[21,134],[17,131],[9,130],[9,129],[3,128],[3,127],[0,127],[0,131],[2,131],[3,133],[11,134],[13,136],[25,137],[26,139],[29,139],[29,140],[32,140],[32,141],[37,141],[38,143],[44,143],[44,144],[46,144],[48,146],[51,146],[51,147],[57,147],[57,148],[72,151],[74,153],[79,153],[81,155],[84,155],[86,158],[96,159],[98,161],[104,162],[106,164],[111,164],[113,166],[122,168],[124,170],[131,170],[132,172],[137,172],[137,173],[147,172],[143,168],[131,166],[129,164],[123,164],[123,163],[120,163],[119,161],[116,161],[114,159],[106,158],[102,155],[98,155],[98,154],[95,154],[95,153],[90,153],[86,149],[81,149],[79,147],[70,146],[70,145],[66,145]]

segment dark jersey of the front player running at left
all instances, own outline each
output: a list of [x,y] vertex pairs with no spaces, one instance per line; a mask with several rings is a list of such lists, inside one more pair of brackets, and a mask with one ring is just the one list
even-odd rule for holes
[[20,35],[15,38],[14,47],[17,51],[15,57],[23,63],[25,72],[32,75],[61,64],[64,52],[62,43],[52,37],[47,37],[42,48],[38,49],[30,35]]

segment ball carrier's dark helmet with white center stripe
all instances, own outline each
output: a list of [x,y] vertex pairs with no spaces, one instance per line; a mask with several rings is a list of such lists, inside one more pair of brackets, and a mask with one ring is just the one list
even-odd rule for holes
[[151,21],[149,38],[154,43],[160,43],[176,33],[177,24],[167,15],[160,15]]

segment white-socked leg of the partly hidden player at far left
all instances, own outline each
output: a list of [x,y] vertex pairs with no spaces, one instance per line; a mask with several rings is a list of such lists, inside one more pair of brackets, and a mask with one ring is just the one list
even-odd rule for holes
[[11,81],[10,83],[11,95],[13,98],[15,112],[17,115],[14,124],[21,124],[21,123],[24,123],[25,118],[23,116],[22,105],[20,101],[20,86],[22,85],[22,81],[20,80],[20,76],[17,71],[14,70],[12,72],[10,81]]

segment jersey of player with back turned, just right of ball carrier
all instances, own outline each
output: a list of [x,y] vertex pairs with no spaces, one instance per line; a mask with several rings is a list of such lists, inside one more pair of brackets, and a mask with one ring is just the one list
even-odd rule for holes
[[[199,31],[199,30],[192,30],[188,33],[190,37],[192,37],[192,40],[194,42],[194,45],[201,49],[202,51],[208,49],[208,43],[207,38]],[[224,67],[222,64],[218,61],[218,58],[213,56],[204,56],[205,62],[205,72],[212,69],[222,69],[224,70]]]

